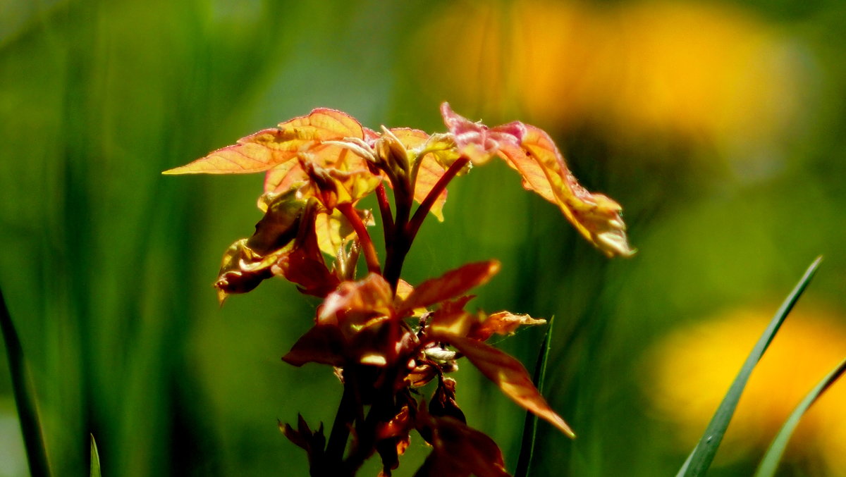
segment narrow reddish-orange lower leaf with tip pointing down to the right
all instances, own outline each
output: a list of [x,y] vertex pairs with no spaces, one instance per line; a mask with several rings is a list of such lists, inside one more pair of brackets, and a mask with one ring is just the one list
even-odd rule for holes
[[459,337],[447,333],[431,337],[439,341],[446,341],[458,349],[461,354],[470,359],[470,363],[481,371],[481,374],[493,381],[508,398],[520,406],[547,419],[558,427],[564,434],[575,437],[573,430],[555,413],[531,382],[529,373],[517,359],[503,353],[497,348],[467,337]]

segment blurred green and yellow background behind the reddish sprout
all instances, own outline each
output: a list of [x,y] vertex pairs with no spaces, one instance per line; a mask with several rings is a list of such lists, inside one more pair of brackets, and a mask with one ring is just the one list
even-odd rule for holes
[[[748,445],[711,474],[750,474],[772,436],[761,429],[799,401],[779,397],[810,389],[794,377],[816,381],[846,354],[840,0],[0,0],[0,12],[0,286],[57,475],[87,472],[89,433],[108,476],[307,474],[277,419],[328,424],[341,387],[279,358],[315,300],[277,280],[219,309],[211,288],[223,250],[261,217],[261,175],[160,173],[313,107],[371,128],[442,131],[441,101],[536,123],[582,184],[624,206],[640,252],[606,260],[492,164],[454,181],[446,222],[424,225],[405,266],[417,283],[496,257],[476,306],[556,316],[547,394],[579,438],[541,425],[538,475],[674,474],[716,402],[693,424],[679,414],[721,396],[743,356],[708,354],[718,336],[679,358],[697,333],[662,348],[664,336],[772,314],[819,254],[797,320],[827,328],[758,385],[761,415],[736,431]],[[497,345],[531,367],[541,337]],[[662,374],[681,359],[706,366]],[[717,385],[703,377],[721,370]],[[457,379],[470,425],[513,469],[524,414],[470,366]],[[846,475],[844,402],[794,442],[784,475]],[[397,475],[426,452],[415,439]],[[3,360],[0,475],[25,474]]]

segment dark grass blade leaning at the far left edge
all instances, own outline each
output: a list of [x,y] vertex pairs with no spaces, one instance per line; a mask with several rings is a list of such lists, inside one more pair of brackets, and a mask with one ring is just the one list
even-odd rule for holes
[[26,458],[30,464],[32,477],[48,477],[50,467],[47,465],[47,452],[44,450],[44,439],[41,437],[41,425],[38,423],[36,401],[30,392],[26,380],[26,364],[24,350],[20,346],[18,332],[14,330],[12,316],[8,313],[3,290],[0,290],[0,330],[3,331],[3,343],[6,344],[9,374],[12,375],[14,403],[18,406],[20,430],[24,435]]

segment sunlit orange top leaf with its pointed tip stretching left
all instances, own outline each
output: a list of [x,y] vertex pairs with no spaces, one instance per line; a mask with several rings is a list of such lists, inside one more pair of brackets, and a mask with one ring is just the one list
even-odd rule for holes
[[166,174],[258,173],[288,162],[299,151],[319,145],[324,140],[364,138],[361,124],[345,112],[317,108],[305,116],[280,123],[278,129],[262,129],[229,145],[212,151]]

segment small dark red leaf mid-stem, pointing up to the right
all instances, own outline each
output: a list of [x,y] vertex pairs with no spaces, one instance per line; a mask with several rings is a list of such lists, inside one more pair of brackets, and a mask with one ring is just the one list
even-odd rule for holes
[[441,277],[426,280],[409,294],[409,298],[405,299],[398,314],[403,315],[408,310],[426,308],[457,297],[470,288],[486,283],[497,274],[499,267],[497,260],[479,261],[448,271]]

